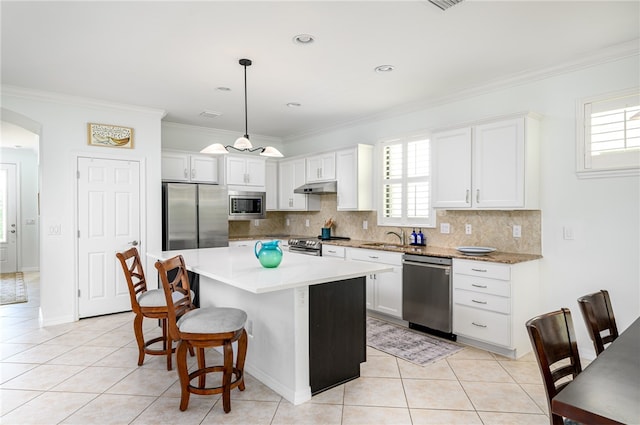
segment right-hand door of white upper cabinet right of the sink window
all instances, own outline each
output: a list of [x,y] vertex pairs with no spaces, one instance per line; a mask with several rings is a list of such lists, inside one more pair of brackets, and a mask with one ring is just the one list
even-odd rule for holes
[[473,205],[524,207],[524,160],[523,118],[476,126]]

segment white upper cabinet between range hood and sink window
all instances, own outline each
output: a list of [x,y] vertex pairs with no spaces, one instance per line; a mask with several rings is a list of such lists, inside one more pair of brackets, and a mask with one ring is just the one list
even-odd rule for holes
[[373,210],[373,146],[336,152],[338,211]]

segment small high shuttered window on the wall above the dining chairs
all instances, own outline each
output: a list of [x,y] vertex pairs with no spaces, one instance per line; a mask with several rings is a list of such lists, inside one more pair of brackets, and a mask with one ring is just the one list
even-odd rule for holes
[[640,171],[638,89],[579,103],[578,175],[637,175]]

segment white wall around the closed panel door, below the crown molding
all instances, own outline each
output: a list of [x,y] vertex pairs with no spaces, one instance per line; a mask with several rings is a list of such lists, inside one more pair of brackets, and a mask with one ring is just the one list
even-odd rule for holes
[[[45,325],[75,319],[76,212],[75,170],[80,154],[114,155],[146,162],[146,229],[142,238],[149,250],[162,248],[160,137],[164,112],[88,99],[63,97],[14,87],[2,88],[2,107],[40,124],[41,228],[61,226],[60,235],[40,235],[40,299]],[[134,149],[87,145],[87,123],[134,128]],[[142,194],[145,190],[143,189]],[[146,269],[153,267],[147,263]]]

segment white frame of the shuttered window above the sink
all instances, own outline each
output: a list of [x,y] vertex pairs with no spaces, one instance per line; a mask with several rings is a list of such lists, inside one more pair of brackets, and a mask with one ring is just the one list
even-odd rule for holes
[[[429,170],[428,175],[425,178],[416,178],[416,177],[408,177],[408,156],[407,146],[411,142],[426,140],[429,145]],[[400,178],[400,183],[402,185],[402,206],[401,206],[401,217],[385,217],[384,216],[384,186],[387,181],[384,178],[384,148],[387,145],[392,144],[401,144],[403,146],[403,156],[402,156],[402,177]],[[431,156],[431,134],[429,132],[421,132],[418,134],[412,134],[411,136],[405,137],[394,137],[389,139],[384,139],[379,141],[376,144],[376,175],[375,175],[375,194],[376,194],[376,205],[377,208],[377,221],[378,226],[397,226],[397,227],[421,227],[421,228],[435,228],[436,227],[436,210],[433,207],[433,164],[432,164],[432,156]],[[408,217],[408,208],[407,208],[407,187],[409,183],[415,183],[420,181],[426,181],[429,187],[429,208],[428,208],[428,218],[410,218]]]

